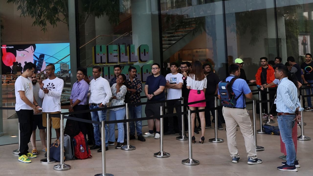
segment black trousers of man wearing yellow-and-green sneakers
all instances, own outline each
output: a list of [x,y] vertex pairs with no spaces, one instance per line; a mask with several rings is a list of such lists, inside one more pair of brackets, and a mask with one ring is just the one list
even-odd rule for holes
[[18,156],[26,155],[28,153],[28,142],[33,132],[34,115],[33,110],[21,109],[16,111],[18,115],[19,129],[20,129],[20,153]]

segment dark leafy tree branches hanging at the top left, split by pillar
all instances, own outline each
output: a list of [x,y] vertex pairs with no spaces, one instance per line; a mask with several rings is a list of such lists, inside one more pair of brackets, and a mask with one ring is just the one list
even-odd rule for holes
[[[47,31],[47,24],[53,27],[63,22],[69,26],[68,0],[8,0],[7,3],[18,5],[21,16],[34,19],[33,26],[41,27]],[[118,0],[79,0],[80,25],[85,24],[90,16],[100,18],[104,15],[109,17],[111,24],[120,21],[120,7]]]

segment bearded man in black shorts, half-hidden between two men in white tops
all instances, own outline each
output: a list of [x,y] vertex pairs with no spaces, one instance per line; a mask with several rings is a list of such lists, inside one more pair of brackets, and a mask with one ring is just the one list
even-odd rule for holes
[[[42,106],[42,98],[39,97],[38,93],[39,93],[39,83],[37,82],[37,75],[35,73],[33,73],[32,77],[30,77],[32,84],[33,84],[33,94],[34,94],[34,98],[37,101],[38,105],[41,107]],[[38,114],[34,114],[34,121],[33,121],[33,133],[32,136],[30,137],[30,142],[32,143],[33,146],[33,150],[32,153],[33,154],[39,154],[37,148],[36,148],[36,129],[39,129],[39,136],[40,136],[40,141],[41,141],[41,147],[42,147],[42,151],[45,151],[45,149],[47,148],[46,146],[46,132],[44,131],[46,128],[44,126],[42,126],[42,112],[38,113]]]

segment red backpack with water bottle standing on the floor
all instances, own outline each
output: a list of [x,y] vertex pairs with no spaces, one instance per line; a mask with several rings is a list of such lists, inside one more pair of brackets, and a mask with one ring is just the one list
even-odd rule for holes
[[[85,138],[82,132],[80,132],[73,138],[73,145],[74,145],[74,155],[76,159],[92,158],[90,149],[87,144],[87,139]],[[85,152],[80,152],[80,145],[82,145]]]

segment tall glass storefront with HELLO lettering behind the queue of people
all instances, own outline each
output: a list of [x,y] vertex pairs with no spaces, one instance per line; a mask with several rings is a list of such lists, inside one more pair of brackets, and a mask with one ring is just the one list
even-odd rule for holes
[[[126,75],[133,65],[137,77],[145,82],[152,63],[159,63],[166,75],[171,62],[199,60],[210,62],[224,79],[228,65],[241,58],[247,79],[254,79],[261,57],[274,60],[279,56],[285,63],[293,56],[302,63],[305,53],[311,52],[313,0],[64,0],[64,4],[37,4],[49,8],[51,16],[33,12],[31,5],[19,8],[14,2],[0,1],[2,107],[14,107],[14,80],[20,74],[3,55],[16,53],[14,61],[23,66],[28,54],[20,50],[34,52],[30,59],[42,79],[44,65],[56,65],[56,75],[64,80],[64,103],[69,101],[77,67],[87,68],[92,79],[92,67],[100,65],[102,76],[110,80],[114,65],[120,64]],[[15,111],[2,110],[0,145],[18,142],[17,126]]]

